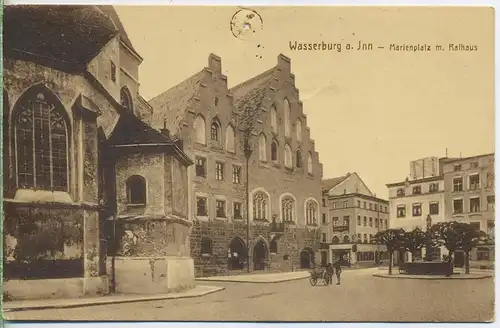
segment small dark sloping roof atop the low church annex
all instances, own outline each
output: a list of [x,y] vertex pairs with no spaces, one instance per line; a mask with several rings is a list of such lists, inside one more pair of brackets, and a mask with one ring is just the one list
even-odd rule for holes
[[132,113],[124,112],[108,139],[109,145],[173,145],[172,140],[153,129]]

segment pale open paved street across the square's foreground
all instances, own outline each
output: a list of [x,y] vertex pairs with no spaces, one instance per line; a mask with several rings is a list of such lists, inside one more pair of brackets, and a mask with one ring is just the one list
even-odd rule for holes
[[[11,320],[490,321],[493,279],[403,280],[345,271],[340,286],[307,279],[272,284],[222,283],[191,299],[5,313]],[[206,282],[204,282],[206,283]]]

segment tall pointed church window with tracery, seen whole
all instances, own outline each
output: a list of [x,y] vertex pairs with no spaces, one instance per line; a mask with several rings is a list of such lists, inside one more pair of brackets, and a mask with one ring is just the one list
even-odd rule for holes
[[68,124],[63,105],[44,86],[26,91],[14,112],[21,188],[67,191]]

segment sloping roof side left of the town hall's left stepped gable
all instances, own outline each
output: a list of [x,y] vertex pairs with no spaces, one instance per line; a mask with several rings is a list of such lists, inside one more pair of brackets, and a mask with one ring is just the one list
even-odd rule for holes
[[153,107],[152,126],[165,126],[172,135],[179,133],[180,123],[201,84],[203,73],[201,70],[149,101]]

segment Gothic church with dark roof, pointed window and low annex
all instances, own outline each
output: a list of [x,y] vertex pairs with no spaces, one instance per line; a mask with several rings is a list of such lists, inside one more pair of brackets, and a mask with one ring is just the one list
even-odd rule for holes
[[[123,231],[132,249],[141,248],[157,219],[178,237],[160,238],[168,250],[129,257],[188,259],[180,237],[189,231],[182,200],[191,162],[140,120],[151,114],[138,95],[142,58],[113,7],[8,6],[4,28],[4,300],[105,294],[111,282],[140,280],[134,266],[107,267],[107,244],[123,244],[105,222],[123,214],[140,217],[146,230]],[[157,174],[148,176],[152,162]],[[164,198],[154,184],[161,178]],[[169,288],[173,278],[165,279]]]

